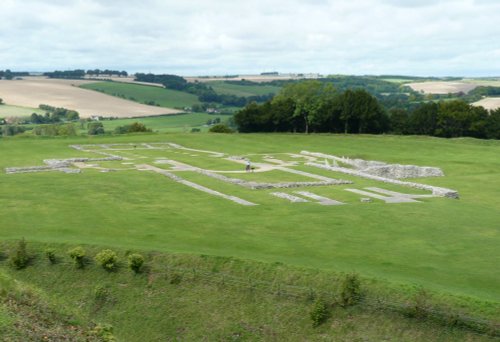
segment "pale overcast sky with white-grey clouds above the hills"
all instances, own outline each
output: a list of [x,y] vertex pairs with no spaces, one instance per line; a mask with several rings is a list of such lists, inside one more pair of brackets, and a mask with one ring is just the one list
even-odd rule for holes
[[497,0],[2,0],[0,69],[500,76]]

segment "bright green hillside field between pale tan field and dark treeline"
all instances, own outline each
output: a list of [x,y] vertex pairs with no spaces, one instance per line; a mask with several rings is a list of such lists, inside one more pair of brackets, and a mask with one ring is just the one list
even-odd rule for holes
[[191,107],[199,104],[198,97],[182,91],[165,89],[160,87],[119,83],[119,82],[95,82],[82,84],[84,89],[97,90],[109,95],[133,99],[140,103],[154,101],[154,103],[166,108]]

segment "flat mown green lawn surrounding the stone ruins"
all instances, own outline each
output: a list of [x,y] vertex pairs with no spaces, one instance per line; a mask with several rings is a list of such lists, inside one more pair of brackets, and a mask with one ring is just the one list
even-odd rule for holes
[[[460,191],[460,200],[291,205],[251,191],[190,176],[200,184],[261,205],[242,207],[135,171],[79,175],[0,174],[0,239],[235,256],[351,271],[397,283],[498,302],[500,143],[470,139],[333,135],[143,135],[100,139],[4,139],[0,166],[40,164],[83,155],[76,142],[172,141],[235,155],[321,151],[367,159],[439,166],[427,183]],[[319,173],[319,172],[318,172]],[[186,177],[188,178],[188,177]],[[359,186],[369,182],[357,181]],[[325,190],[322,190],[325,191]]]

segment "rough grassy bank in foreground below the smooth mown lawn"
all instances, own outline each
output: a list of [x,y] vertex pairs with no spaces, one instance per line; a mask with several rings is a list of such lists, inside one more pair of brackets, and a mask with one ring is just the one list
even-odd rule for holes
[[[52,246],[61,254],[67,248]],[[8,249],[9,245],[2,244],[2,248]],[[46,248],[34,245],[33,252],[36,255]],[[96,260],[102,255],[97,247],[86,249]],[[115,261],[123,262],[127,253],[116,250]],[[0,276],[0,282],[16,277],[39,289],[37,293],[43,292],[46,302],[57,298],[59,310],[66,310],[63,314],[44,311],[44,329],[32,325],[23,332],[34,339],[43,339],[46,334],[66,339],[81,336],[90,341],[236,337],[288,341],[320,337],[493,341],[499,333],[494,325],[485,326],[490,324],[485,323],[490,318],[475,319],[474,313],[469,312],[464,320],[463,308],[454,306],[451,298],[443,302],[421,289],[391,289],[383,282],[357,276],[358,290],[364,299],[342,307],[342,284],[350,282],[346,279],[351,276],[332,272],[234,258],[152,252],[148,253],[147,271],[143,274],[122,268],[102,272],[100,262],[89,263],[77,271],[64,260],[56,265],[34,260],[23,271],[5,268],[0,261],[0,272],[8,273]],[[15,298],[17,290],[11,285],[2,288],[3,296]],[[79,305],[74,306],[75,302]],[[396,303],[399,307],[394,306]],[[439,319],[436,312],[440,306],[446,308],[444,315],[453,319]],[[10,315],[14,308],[6,308]],[[19,308],[15,310],[16,315],[0,325],[4,332],[15,332],[20,313]],[[34,312],[29,319],[36,321],[38,313],[36,309]],[[472,321],[477,325],[472,325]]]

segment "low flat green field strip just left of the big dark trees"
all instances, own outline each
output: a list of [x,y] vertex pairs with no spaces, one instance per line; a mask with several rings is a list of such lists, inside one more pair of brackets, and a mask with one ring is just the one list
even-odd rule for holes
[[220,118],[226,120],[227,115],[210,115],[206,113],[190,113],[180,115],[164,115],[133,119],[104,120],[101,121],[105,130],[113,130],[117,126],[129,125],[133,122],[140,122],[151,128],[155,132],[189,132],[192,128],[199,128],[201,131],[207,131],[204,127],[208,120]]

